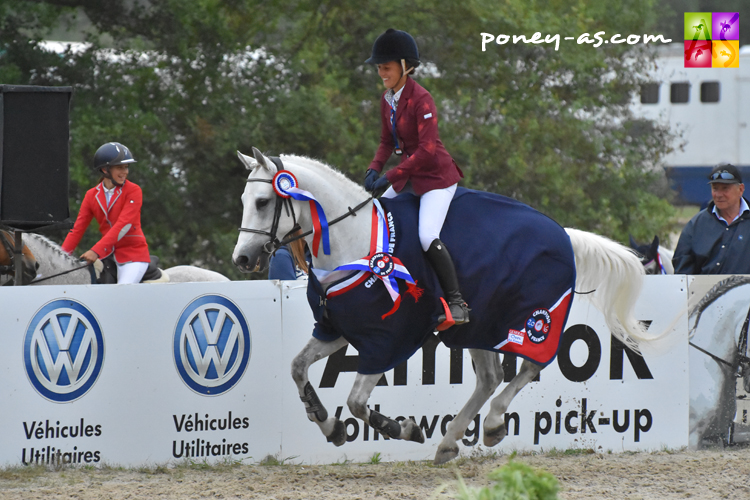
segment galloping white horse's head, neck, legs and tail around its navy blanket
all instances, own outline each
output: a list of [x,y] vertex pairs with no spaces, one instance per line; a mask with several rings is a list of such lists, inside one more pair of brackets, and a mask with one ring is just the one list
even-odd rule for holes
[[[271,159],[263,156],[257,149],[253,148],[253,154],[254,158],[251,158],[238,152],[240,160],[251,172],[242,195],[244,205],[242,229],[244,231],[238,238],[233,261],[246,272],[257,267],[261,269],[266,267],[268,252],[272,250],[269,248],[269,239],[276,238],[273,233],[281,238],[293,232],[296,229],[293,223],[294,217],[302,231],[309,231],[313,227],[311,209],[307,202],[291,201],[294,214],[283,209],[274,210],[277,195],[269,180],[274,177],[278,169]],[[312,193],[330,217],[353,211],[349,207],[356,207],[360,202],[367,201],[368,195],[360,186],[320,162],[296,156],[283,156],[282,160],[285,170],[291,172],[298,180],[299,189]],[[326,255],[321,250],[317,256],[314,256],[314,269],[319,272],[320,270],[332,271],[339,265],[368,255],[372,204],[372,201],[365,203],[364,208],[358,212],[359,216],[344,218],[340,223],[329,227],[330,255]],[[274,213],[278,215],[275,216]],[[477,214],[477,217],[481,217],[481,214]],[[647,342],[649,334],[643,330],[632,314],[643,277],[643,266],[638,257],[629,249],[606,238],[575,229],[566,231],[575,253],[576,288],[587,291],[597,289],[592,301],[604,313],[615,336],[631,347]],[[270,234],[273,235],[269,237]],[[313,236],[308,235],[306,241],[310,248],[313,248]],[[523,241],[516,243],[524,244]],[[479,242],[476,244],[481,245]],[[492,248],[484,247],[484,251],[491,252]],[[457,265],[460,265],[460,257],[456,258],[458,259]],[[498,256],[497,258],[504,257]],[[342,273],[342,271],[337,272]],[[346,272],[343,274],[346,275]],[[519,276],[519,279],[521,278]],[[523,280],[521,279],[520,282],[523,283]],[[462,289],[466,289],[467,286],[470,284],[462,285]],[[450,329],[444,333],[449,331]],[[431,333],[431,330],[426,333]],[[500,333],[502,332],[498,332]],[[300,399],[305,404],[308,419],[316,423],[328,440],[337,446],[346,442],[344,424],[336,417],[328,416],[328,412],[309,382],[308,370],[312,363],[333,354],[347,343],[343,336],[330,342],[312,338],[292,363],[292,377],[297,385]],[[449,424],[435,455],[436,464],[445,463],[458,455],[457,441],[464,436],[464,431],[477,412],[503,381],[502,364],[497,352],[482,349],[469,349],[469,352],[476,366],[476,388],[469,401]],[[518,375],[499,396],[492,400],[491,411],[484,420],[484,444],[486,446],[494,446],[505,437],[507,431],[504,414],[511,400],[536,377],[542,368],[543,366],[539,364],[524,360]],[[367,401],[370,393],[381,376],[382,373],[357,373],[347,400],[352,414],[381,434],[423,443],[424,437],[421,429],[414,420],[407,419],[399,424],[368,408]]]

